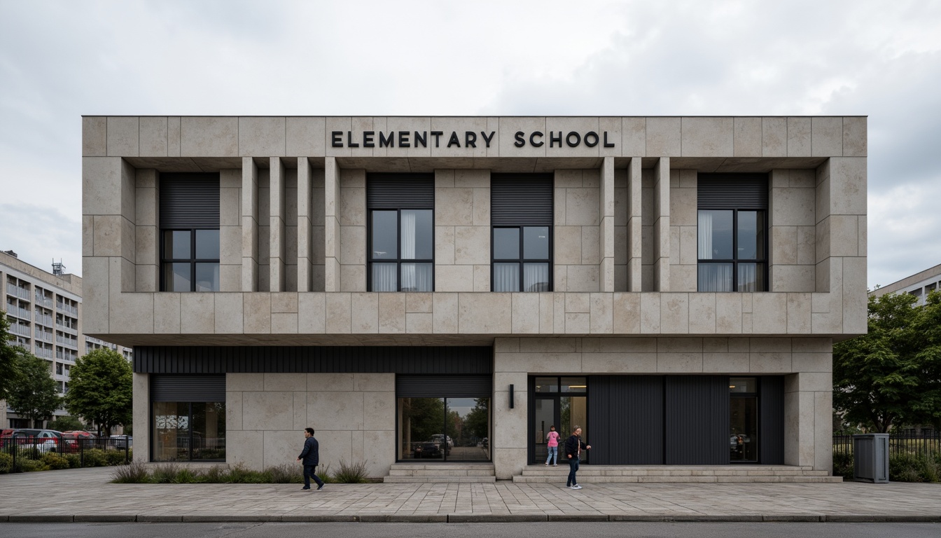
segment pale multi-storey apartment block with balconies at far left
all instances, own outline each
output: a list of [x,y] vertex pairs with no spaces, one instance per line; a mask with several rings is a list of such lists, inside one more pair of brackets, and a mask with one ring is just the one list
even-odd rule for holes
[[[56,270],[56,269],[54,269]],[[0,279],[5,283],[10,344],[22,346],[49,362],[60,395],[69,390],[69,372],[75,359],[94,347],[124,353],[133,351],[82,332],[82,279],[73,274],[54,274],[19,259],[12,251],[0,252]],[[32,428],[29,419],[0,401],[0,423],[9,428]],[[67,416],[64,409],[55,416]]]

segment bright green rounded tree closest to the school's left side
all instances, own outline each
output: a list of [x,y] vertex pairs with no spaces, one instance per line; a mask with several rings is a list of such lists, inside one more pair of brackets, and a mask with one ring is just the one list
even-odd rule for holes
[[129,424],[133,410],[131,365],[117,351],[91,351],[75,361],[66,408],[98,425],[98,434]]

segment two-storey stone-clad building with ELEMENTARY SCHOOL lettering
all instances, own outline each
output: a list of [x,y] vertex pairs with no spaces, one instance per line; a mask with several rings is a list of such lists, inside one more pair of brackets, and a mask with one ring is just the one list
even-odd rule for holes
[[322,461],[386,480],[555,480],[554,425],[609,481],[829,479],[832,345],[866,331],[866,137],[89,116],[85,331],[134,348],[146,461],[290,463],[311,426]]

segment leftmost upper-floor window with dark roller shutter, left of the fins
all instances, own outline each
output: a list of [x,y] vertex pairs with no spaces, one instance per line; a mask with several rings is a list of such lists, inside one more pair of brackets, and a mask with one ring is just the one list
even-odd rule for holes
[[161,291],[219,290],[219,176],[160,177]]

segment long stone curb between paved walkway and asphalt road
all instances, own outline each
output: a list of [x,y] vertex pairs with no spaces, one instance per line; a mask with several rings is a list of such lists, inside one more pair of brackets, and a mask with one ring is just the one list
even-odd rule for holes
[[941,523],[941,514],[0,514],[2,523]]

